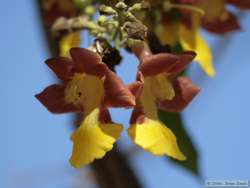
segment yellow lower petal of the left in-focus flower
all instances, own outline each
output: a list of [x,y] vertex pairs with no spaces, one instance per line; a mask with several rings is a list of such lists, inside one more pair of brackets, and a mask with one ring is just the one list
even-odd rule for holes
[[102,158],[113,148],[123,130],[120,124],[101,124],[98,115],[99,109],[93,110],[71,137],[74,146],[70,163],[75,168]]

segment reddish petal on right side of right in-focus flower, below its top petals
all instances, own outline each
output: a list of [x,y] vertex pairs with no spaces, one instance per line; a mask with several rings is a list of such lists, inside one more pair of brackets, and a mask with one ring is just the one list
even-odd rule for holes
[[173,86],[175,97],[172,100],[158,101],[159,108],[169,112],[182,111],[200,91],[200,88],[186,77],[178,77],[173,82]]

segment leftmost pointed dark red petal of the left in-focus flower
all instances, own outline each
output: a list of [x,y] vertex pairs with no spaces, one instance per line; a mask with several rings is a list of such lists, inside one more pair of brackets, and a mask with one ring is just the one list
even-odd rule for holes
[[51,85],[45,88],[35,97],[52,113],[60,114],[67,112],[77,112],[80,108],[73,104],[68,104],[64,100],[64,86]]

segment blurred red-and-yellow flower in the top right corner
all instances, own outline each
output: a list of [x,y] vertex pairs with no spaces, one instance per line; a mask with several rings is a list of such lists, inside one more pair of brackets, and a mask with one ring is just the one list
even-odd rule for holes
[[[180,18],[173,19],[172,12],[164,13],[162,23],[156,27],[156,33],[164,44],[174,45],[180,42],[184,50],[197,53],[195,61],[209,75],[214,76],[212,51],[200,34],[200,28],[215,34],[225,34],[240,29],[236,16],[227,10],[227,3],[241,9],[249,9],[249,0],[178,0]],[[186,4],[204,11],[202,16],[184,7]],[[171,19],[170,19],[171,18]]]

